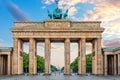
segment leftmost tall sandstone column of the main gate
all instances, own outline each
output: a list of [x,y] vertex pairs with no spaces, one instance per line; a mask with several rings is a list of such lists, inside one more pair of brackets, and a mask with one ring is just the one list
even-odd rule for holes
[[23,74],[23,57],[21,56],[22,41],[14,38],[14,50],[12,56],[12,74]]

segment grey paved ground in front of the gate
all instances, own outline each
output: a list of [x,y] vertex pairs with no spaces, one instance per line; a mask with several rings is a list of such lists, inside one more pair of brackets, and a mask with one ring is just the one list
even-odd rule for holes
[[43,74],[38,74],[35,76],[0,76],[0,80],[120,80],[120,76],[78,76],[75,74],[71,76],[64,76],[63,74],[43,76]]

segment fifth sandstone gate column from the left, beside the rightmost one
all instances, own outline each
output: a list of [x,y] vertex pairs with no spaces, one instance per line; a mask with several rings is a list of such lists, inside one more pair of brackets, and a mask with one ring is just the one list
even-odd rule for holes
[[86,39],[79,40],[79,54],[78,54],[78,74],[86,74]]

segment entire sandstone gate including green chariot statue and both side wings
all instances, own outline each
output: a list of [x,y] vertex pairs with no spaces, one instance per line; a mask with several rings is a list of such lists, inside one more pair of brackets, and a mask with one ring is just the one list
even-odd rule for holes
[[[102,48],[100,21],[70,21],[68,10],[57,8],[43,22],[15,22],[14,47],[0,48],[0,75],[23,74],[23,43],[29,42],[29,74],[37,74],[37,43],[45,43],[45,75],[51,74],[51,42],[64,43],[64,74],[70,74],[70,43],[78,43],[78,75],[86,75],[86,43],[92,44],[92,74],[120,75],[120,48]],[[103,65],[104,64],[104,65]]]

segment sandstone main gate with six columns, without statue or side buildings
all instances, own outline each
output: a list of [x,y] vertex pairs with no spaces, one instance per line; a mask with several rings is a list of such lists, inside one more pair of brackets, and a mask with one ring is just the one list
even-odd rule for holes
[[49,19],[43,22],[15,22],[11,29],[14,39],[12,74],[23,74],[23,43],[29,42],[29,74],[37,73],[36,44],[45,42],[45,75],[51,74],[51,42],[64,42],[64,74],[70,74],[70,43],[78,43],[78,74],[86,74],[86,42],[92,43],[92,74],[103,74],[101,34],[99,21],[72,22]]

